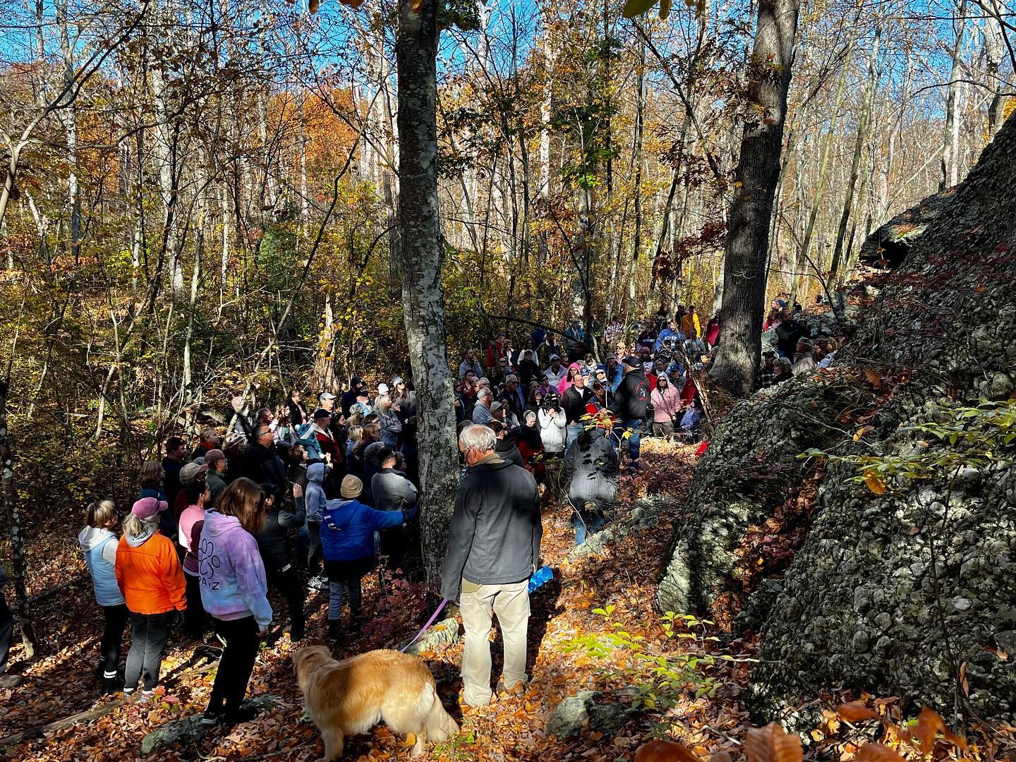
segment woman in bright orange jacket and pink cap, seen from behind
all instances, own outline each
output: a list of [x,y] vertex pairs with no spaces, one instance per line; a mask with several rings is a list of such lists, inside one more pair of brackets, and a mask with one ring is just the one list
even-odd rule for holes
[[137,690],[143,678],[142,700],[158,685],[158,670],[170,630],[187,608],[186,583],[173,541],[158,530],[166,501],[141,498],[124,519],[114,572],[130,611],[130,651],[124,673],[124,695]]

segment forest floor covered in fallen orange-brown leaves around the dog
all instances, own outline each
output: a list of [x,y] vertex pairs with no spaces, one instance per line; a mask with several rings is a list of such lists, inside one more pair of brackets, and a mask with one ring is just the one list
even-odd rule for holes
[[[529,622],[529,674],[524,696],[498,697],[488,707],[463,711],[461,643],[423,656],[438,682],[444,706],[459,722],[452,741],[432,746],[438,760],[630,760],[647,739],[680,741],[703,758],[727,752],[742,757],[747,712],[740,697],[755,653],[752,638],[735,638],[716,625],[693,618],[673,622],[653,609],[655,582],[665,562],[675,522],[683,519],[684,497],[694,469],[694,448],[643,440],[644,468],[622,482],[619,513],[645,495],[674,498],[655,525],[610,544],[598,555],[569,560],[573,547],[570,509],[552,504],[544,514],[543,555],[555,573],[553,582],[532,594]],[[26,677],[21,687],[0,691],[0,759],[123,760],[141,758],[141,740],[154,727],[203,711],[214,678],[200,672],[194,643],[171,639],[163,661],[163,688],[148,704],[123,703],[119,694],[98,690],[101,615],[94,605],[76,527],[60,535],[47,532],[29,548],[30,589],[37,595],[36,622],[46,646],[40,658],[17,663]],[[778,527],[755,536],[780,558]],[[746,551],[753,563],[763,555]],[[756,558],[757,557],[757,558]],[[400,647],[433,611],[434,596],[422,585],[385,579],[365,580],[365,610],[373,620],[359,636],[333,648],[336,657],[372,648]],[[41,594],[42,593],[42,594]],[[284,602],[277,604],[284,621]],[[274,694],[282,702],[256,719],[232,728],[212,728],[195,743],[156,752],[151,758],[180,760],[277,759],[317,760],[323,747],[316,727],[301,721],[302,700],[293,676],[295,647],[325,642],[323,593],[307,601],[308,638],[290,642],[275,626],[258,655],[249,696]],[[722,615],[720,615],[721,617]],[[719,619],[719,617],[717,618]],[[496,632],[496,630],[495,630]],[[126,640],[126,639],[125,639]],[[499,674],[500,640],[495,636],[494,676]],[[126,648],[125,648],[126,653]],[[602,692],[607,703],[638,707],[623,715],[620,727],[607,733],[585,728],[578,738],[559,740],[546,732],[560,701],[578,691]],[[849,757],[850,741],[840,736],[840,722],[829,697],[823,726],[812,734],[809,756]],[[109,708],[112,705],[112,708]],[[104,711],[105,709],[105,711]],[[67,719],[85,713],[79,721]],[[411,741],[383,725],[347,740],[345,759],[407,759]]]

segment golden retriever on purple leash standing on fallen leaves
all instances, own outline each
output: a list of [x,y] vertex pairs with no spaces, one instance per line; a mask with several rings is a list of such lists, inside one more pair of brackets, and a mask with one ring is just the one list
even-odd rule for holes
[[326,762],[342,755],[346,736],[382,719],[392,733],[417,737],[414,757],[428,741],[458,733],[441,706],[434,676],[417,656],[377,650],[336,661],[325,646],[312,645],[295,651],[293,663],[307,713],[321,731]]

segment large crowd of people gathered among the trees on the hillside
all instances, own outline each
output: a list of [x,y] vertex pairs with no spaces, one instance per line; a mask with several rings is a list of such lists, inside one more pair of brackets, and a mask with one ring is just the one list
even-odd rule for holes
[[[813,343],[799,318],[800,306],[774,303],[758,387],[831,361],[835,344]],[[527,583],[539,566],[549,464],[562,463],[580,545],[611,514],[621,468],[639,468],[643,434],[699,436],[693,372],[721,340],[720,314],[703,330],[694,307],[661,308],[633,341],[621,333],[609,326],[598,355],[577,320],[561,336],[536,328],[518,348],[502,333],[453,367],[463,481],[441,585],[461,604],[466,703],[490,700],[493,614],[505,647],[501,687],[526,679]],[[269,587],[285,600],[291,640],[306,636],[308,591],[327,595],[330,639],[354,634],[362,581],[379,557],[393,571],[419,566],[416,414],[400,376],[376,385],[356,376],[338,395],[318,393],[316,406],[299,390],[253,411],[238,396],[227,430],[208,426],[192,446],[170,437],[165,457],[144,463],[119,537],[116,506],[89,505],[78,539],[103,611],[104,689],[131,696],[140,687],[146,700],[173,631],[182,626],[200,643],[211,630],[224,649],[202,721],[244,719],[258,644],[278,617]],[[0,594],[0,671],[11,626]]]

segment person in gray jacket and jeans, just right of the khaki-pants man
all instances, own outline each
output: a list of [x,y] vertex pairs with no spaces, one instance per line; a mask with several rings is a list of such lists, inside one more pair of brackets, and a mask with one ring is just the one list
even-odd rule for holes
[[575,512],[575,545],[585,543],[587,534],[604,528],[604,512],[612,508],[618,495],[618,452],[606,429],[585,429],[565,451],[565,479],[568,500]]

